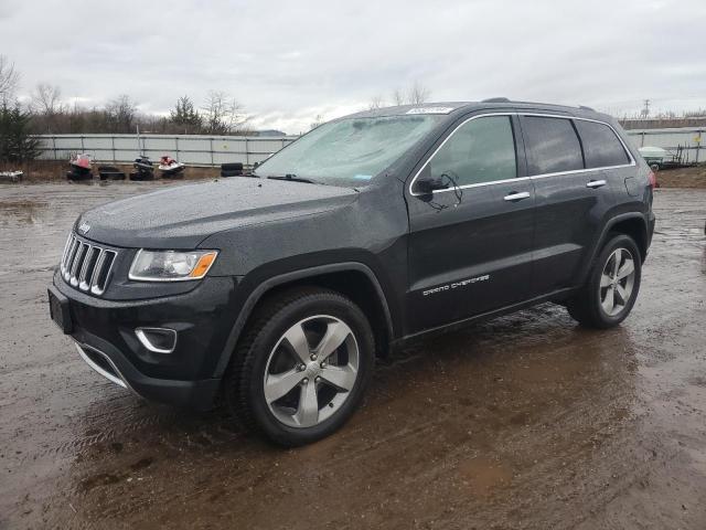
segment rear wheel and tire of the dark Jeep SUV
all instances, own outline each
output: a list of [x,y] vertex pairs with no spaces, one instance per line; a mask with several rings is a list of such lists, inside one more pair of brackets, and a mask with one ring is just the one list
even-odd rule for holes
[[588,280],[566,305],[582,326],[612,328],[622,322],[640,290],[642,262],[632,237],[613,234],[593,262]]

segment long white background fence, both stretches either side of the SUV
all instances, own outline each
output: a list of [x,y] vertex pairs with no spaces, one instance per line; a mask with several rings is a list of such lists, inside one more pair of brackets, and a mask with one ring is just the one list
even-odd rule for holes
[[[683,147],[687,161],[706,161],[706,128],[632,129],[627,131],[635,147]],[[252,166],[279,151],[296,136],[174,136],[174,135],[42,135],[40,158],[68,160],[87,152],[99,162],[131,162],[140,153],[151,159],[169,155],[191,166],[243,162]]]

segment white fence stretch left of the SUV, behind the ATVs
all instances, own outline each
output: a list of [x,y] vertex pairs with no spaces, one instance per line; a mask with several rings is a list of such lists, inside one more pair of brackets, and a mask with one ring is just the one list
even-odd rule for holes
[[136,135],[41,135],[39,139],[44,160],[68,160],[76,152],[87,152],[98,162],[132,162],[140,155],[154,160],[169,155],[190,166],[252,166],[297,137],[141,135],[138,140]]

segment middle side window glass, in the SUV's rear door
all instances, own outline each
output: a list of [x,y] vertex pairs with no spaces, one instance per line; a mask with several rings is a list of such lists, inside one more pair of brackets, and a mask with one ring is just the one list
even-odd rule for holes
[[522,130],[531,176],[584,169],[581,145],[570,120],[525,116]]

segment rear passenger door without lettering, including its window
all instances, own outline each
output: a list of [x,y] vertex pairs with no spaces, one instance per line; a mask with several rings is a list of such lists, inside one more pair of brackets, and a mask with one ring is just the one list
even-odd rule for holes
[[527,174],[536,192],[533,296],[576,284],[578,273],[613,204],[611,179],[586,168],[570,117],[522,115]]

